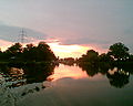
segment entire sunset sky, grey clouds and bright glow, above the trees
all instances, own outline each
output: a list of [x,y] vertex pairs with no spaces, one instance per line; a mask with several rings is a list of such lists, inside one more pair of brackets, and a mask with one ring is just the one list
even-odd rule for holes
[[57,56],[100,53],[116,42],[133,53],[133,0],[0,0],[0,46],[48,41]]

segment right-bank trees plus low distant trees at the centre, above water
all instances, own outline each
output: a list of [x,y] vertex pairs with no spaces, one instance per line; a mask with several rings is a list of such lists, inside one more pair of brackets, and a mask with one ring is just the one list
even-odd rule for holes
[[108,53],[99,54],[99,52],[94,50],[86,51],[86,54],[83,54],[79,59],[73,57],[66,57],[61,59],[60,63],[72,65],[73,63],[76,63],[79,65],[92,65],[98,66],[101,64],[106,65],[113,65],[113,66],[123,66],[123,65],[130,65],[133,66],[133,54],[129,52],[129,47],[126,47],[123,43],[119,42],[115,44],[112,44],[109,47]]

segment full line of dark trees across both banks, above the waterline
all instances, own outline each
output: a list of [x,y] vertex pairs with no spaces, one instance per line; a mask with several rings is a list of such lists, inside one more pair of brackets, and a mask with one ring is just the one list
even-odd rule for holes
[[106,65],[133,65],[133,54],[129,52],[123,43],[119,42],[112,44],[109,47],[108,53],[99,54],[94,50],[86,51],[81,57],[65,57],[59,59],[54,55],[50,46],[45,42],[40,42],[37,46],[32,43],[27,44],[24,47],[20,43],[14,43],[6,51],[0,51],[0,65],[25,65],[29,63],[33,64],[66,64],[73,65],[74,63],[79,65],[92,65],[98,66],[101,64]]

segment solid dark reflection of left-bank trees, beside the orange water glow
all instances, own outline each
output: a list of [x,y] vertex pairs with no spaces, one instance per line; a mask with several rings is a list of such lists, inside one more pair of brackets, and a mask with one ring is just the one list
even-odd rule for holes
[[27,83],[40,83],[47,80],[53,73],[52,64],[28,64],[24,66]]

